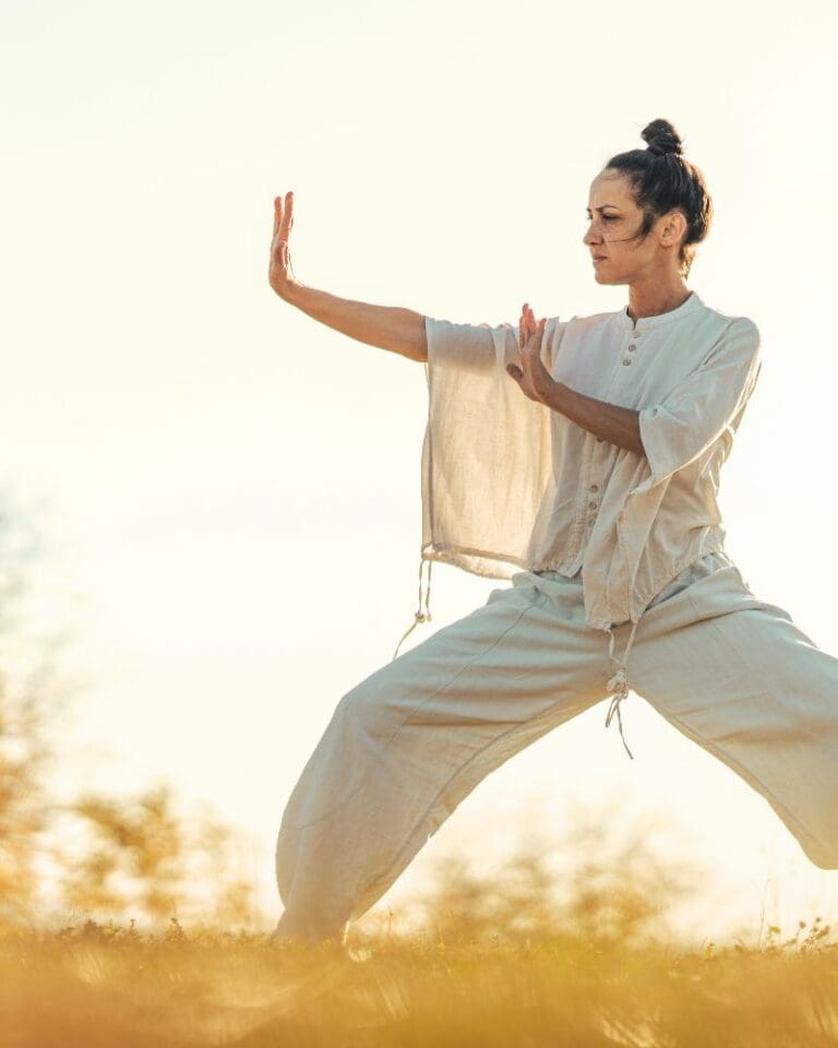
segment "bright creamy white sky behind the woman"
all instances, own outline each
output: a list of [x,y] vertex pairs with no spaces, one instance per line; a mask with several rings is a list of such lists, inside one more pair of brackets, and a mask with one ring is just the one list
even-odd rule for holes
[[[728,551],[838,655],[834,10],[0,9],[0,480],[45,508],[44,607],[85,680],[68,789],[165,778],[214,803],[256,842],[278,914],[285,800],[412,619],[427,386],[274,296],[273,198],[295,190],[297,276],[337,295],[472,323],[524,300],[619,309],[627,289],[597,285],[582,245],[588,187],[656,117],[715,201],[690,285],[763,335]],[[496,585],[435,565],[410,642]],[[709,871],[710,932],[722,915],[755,932],[763,902],[838,916],[838,874],[762,798],[642,699],[623,708],[634,761],[596,706],[481,784],[394,895],[469,832],[505,847],[540,791],[556,826],[571,798],[670,815]]]

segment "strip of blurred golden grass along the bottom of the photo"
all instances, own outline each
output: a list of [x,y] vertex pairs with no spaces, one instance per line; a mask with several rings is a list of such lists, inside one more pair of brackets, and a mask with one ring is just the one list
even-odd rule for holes
[[838,1045],[838,944],[815,919],[759,949],[631,948],[448,927],[290,946],[264,934],[94,924],[0,938],[0,1044]]

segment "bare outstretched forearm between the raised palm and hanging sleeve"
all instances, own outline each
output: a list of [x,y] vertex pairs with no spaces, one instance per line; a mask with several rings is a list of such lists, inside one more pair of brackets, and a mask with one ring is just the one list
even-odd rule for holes
[[412,309],[338,298],[304,284],[296,285],[284,298],[314,320],[358,342],[390,349],[410,360],[428,359],[424,315]]

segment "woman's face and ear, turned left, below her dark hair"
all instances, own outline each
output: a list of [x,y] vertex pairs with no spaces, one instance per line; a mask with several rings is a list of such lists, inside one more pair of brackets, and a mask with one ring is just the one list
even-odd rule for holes
[[[588,227],[583,243],[591,254],[598,284],[634,284],[678,270],[679,230],[683,216],[663,215],[645,240],[634,237],[643,224],[643,211],[634,202],[628,180],[608,168],[590,183]],[[681,223],[681,224],[679,224]]]

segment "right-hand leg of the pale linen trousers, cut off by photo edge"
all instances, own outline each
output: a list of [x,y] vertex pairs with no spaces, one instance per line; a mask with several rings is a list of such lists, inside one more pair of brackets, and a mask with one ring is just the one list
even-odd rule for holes
[[767,800],[815,866],[838,869],[838,658],[731,562],[644,616],[631,678]]

